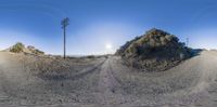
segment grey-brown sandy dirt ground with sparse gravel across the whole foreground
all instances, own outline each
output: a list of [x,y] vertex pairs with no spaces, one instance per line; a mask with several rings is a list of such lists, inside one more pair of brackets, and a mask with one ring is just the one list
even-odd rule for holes
[[217,52],[163,72],[120,57],[61,58],[0,52],[0,107],[215,107]]

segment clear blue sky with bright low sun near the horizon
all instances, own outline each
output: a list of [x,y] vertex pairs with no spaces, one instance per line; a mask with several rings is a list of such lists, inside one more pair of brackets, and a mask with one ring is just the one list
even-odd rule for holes
[[63,54],[64,17],[67,55],[114,53],[151,28],[217,49],[216,0],[0,0],[0,50],[23,42]]

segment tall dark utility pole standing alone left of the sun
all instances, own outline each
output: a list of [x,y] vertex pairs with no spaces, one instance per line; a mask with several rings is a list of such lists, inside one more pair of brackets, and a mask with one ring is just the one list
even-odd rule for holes
[[61,25],[62,25],[62,29],[63,29],[63,36],[64,36],[64,41],[63,41],[63,52],[64,52],[64,54],[63,54],[63,57],[64,57],[64,59],[65,59],[65,52],[66,52],[66,45],[65,45],[65,43],[66,43],[66,37],[65,37],[65,35],[66,35],[66,27],[69,25],[69,18],[68,17],[65,17],[62,22],[61,22]]

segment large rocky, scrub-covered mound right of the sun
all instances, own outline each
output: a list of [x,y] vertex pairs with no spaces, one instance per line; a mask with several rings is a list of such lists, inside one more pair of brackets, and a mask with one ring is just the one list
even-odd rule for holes
[[122,55],[129,66],[145,71],[162,71],[189,58],[191,50],[175,35],[153,28],[128,41],[117,50],[116,55]]

